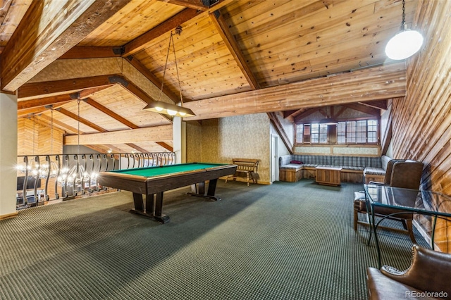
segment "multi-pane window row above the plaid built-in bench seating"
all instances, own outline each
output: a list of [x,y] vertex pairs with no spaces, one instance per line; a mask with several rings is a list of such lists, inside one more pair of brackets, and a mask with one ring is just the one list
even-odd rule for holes
[[338,125],[299,123],[296,124],[295,143],[376,144],[379,141],[378,126],[376,119],[347,120]]

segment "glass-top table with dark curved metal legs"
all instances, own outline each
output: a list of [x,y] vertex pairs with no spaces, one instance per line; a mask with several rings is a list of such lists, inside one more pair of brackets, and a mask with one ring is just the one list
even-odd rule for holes
[[[434,233],[437,218],[451,218],[451,197],[432,191],[416,189],[402,189],[400,187],[388,187],[385,185],[364,185],[366,211],[371,212],[371,227],[376,241],[378,253],[378,267],[381,268],[381,250],[379,248],[376,230],[378,225],[385,219],[405,215],[406,213],[417,213],[421,215],[434,216],[431,248],[434,249]],[[391,208],[393,213],[384,215],[376,222],[375,213],[377,208]],[[371,232],[369,240],[371,239]]]

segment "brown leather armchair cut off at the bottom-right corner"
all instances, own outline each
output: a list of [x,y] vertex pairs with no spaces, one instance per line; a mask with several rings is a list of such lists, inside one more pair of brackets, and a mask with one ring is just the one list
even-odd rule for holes
[[407,270],[384,265],[381,270],[367,268],[366,274],[370,300],[451,299],[451,254],[414,245]]

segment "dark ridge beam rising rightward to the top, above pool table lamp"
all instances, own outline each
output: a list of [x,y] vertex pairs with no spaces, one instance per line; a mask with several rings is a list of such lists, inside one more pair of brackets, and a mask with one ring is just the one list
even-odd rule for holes
[[125,44],[123,57],[127,57],[137,53],[138,51],[141,51],[142,49],[145,48],[146,44],[151,42],[156,37],[159,37],[165,34],[166,32],[170,32],[178,25],[181,25],[187,22],[188,20],[191,20],[201,12],[202,11],[197,11],[191,8],[185,8],[183,11],[180,11],[180,13],[174,15],[172,18],[169,18],[160,25],[152,28],[152,30],[149,30],[143,35],[140,35],[140,37],[137,37],[136,39],[133,39],[132,41]]

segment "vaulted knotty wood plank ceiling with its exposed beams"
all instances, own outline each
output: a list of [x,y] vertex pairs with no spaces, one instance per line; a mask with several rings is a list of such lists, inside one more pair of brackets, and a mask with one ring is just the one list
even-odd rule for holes
[[[17,91],[20,118],[37,115],[49,123],[53,108],[67,144],[78,134],[80,109],[82,144],[94,145],[95,137],[96,149],[171,150],[171,119],[142,108],[180,101],[172,49],[164,72],[178,25],[181,92],[197,115],[187,120],[275,111],[292,118],[317,106],[371,101],[381,107],[405,93],[404,63],[388,61],[383,51],[399,31],[400,0],[2,4],[1,89]],[[406,1],[408,27],[417,5]],[[142,139],[130,133],[143,129]]]

